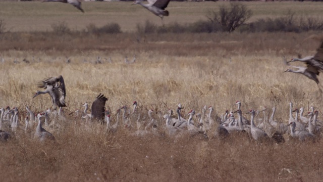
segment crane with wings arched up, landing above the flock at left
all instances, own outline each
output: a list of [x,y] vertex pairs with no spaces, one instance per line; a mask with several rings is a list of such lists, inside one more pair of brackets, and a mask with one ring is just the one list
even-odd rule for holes
[[58,107],[66,107],[65,97],[65,83],[62,75],[59,77],[50,77],[45,78],[38,84],[38,88],[44,88],[45,91],[37,91],[33,98],[40,94],[49,94],[52,100],[52,104],[54,106],[54,110],[56,110],[56,106]]

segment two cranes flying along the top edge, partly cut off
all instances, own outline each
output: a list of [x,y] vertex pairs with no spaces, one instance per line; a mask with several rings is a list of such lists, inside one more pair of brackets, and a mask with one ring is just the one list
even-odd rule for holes
[[[136,0],[132,5],[141,5],[142,7],[146,8],[148,11],[153,13],[154,15],[161,18],[163,22],[164,16],[169,16],[169,12],[165,10],[170,3],[171,0],[148,0],[147,4],[142,3],[142,0]],[[81,8],[81,2],[79,0],[45,0],[43,2],[61,2],[61,3],[68,3],[76,7],[82,13],[84,10]],[[164,24],[164,22],[163,22]]]

